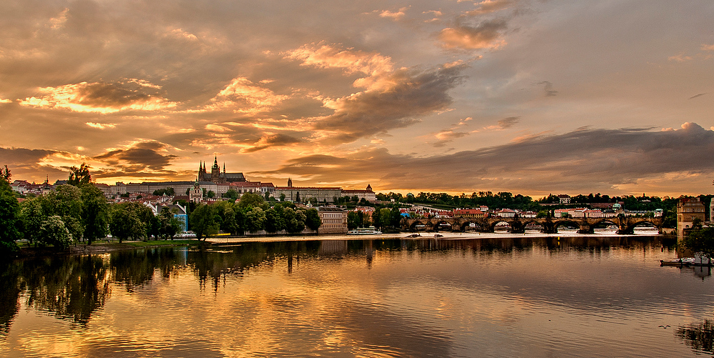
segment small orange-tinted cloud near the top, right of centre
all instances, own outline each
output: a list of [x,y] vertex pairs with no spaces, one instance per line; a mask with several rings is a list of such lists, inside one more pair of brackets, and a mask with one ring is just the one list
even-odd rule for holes
[[458,25],[443,29],[438,39],[446,49],[499,49],[506,46],[502,32],[507,28],[506,20],[493,19],[476,27]]

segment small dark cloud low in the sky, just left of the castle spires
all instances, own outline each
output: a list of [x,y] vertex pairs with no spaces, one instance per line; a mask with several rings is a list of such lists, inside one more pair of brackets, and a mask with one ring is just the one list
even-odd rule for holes
[[164,149],[164,147],[165,144],[154,141],[142,142],[135,144],[129,149],[108,151],[104,154],[94,156],[94,159],[114,167],[116,171],[162,171],[166,166],[171,164],[172,159],[178,158],[178,156],[174,154],[161,154],[160,151]]

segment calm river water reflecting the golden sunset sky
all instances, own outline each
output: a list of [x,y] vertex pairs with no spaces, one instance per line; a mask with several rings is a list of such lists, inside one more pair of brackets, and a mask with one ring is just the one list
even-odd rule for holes
[[305,239],[0,267],[2,357],[711,355],[709,269],[652,236]]

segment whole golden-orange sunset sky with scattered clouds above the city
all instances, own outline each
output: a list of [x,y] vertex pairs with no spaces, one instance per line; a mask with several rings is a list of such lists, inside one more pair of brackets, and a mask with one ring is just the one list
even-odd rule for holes
[[713,191],[714,1],[0,1],[13,179]]

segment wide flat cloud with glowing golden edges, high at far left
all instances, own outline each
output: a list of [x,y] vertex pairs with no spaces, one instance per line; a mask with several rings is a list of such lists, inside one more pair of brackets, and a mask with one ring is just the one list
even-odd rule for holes
[[38,91],[43,95],[27,97],[19,103],[21,106],[93,113],[114,113],[129,110],[156,111],[174,108],[176,103],[161,97],[156,87],[154,84],[137,79],[116,82],[81,82],[40,88]]

